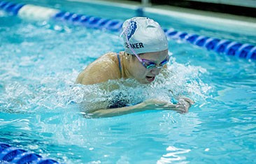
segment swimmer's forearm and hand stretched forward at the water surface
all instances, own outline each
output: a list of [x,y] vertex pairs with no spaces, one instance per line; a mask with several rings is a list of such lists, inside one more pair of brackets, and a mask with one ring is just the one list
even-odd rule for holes
[[180,100],[179,103],[172,104],[163,100],[150,99],[145,100],[143,103],[128,107],[87,110],[87,115],[92,118],[115,117],[134,112],[142,112],[145,110],[174,110],[176,112],[186,113],[188,112],[190,105],[191,104],[186,100]]

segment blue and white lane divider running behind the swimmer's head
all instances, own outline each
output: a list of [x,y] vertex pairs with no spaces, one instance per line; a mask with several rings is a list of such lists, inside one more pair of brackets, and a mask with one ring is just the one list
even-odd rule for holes
[[[53,8],[1,0],[0,9],[29,20],[57,20],[69,22],[70,24],[78,24],[87,28],[108,29],[111,31],[120,31],[123,23],[120,20],[109,20],[90,15],[79,15]],[[197,34],[176,31],[174,29],[164,29],[164,32],[168,38],[185,40],[193,45],[204,47],[207,50],[213,50],[220,54],[227,54],[229,56],[245,59],[256,59],[255,45],[237,43],[231,40],[222,40],[220,38],[211,38],[208,36],[199,36]]]

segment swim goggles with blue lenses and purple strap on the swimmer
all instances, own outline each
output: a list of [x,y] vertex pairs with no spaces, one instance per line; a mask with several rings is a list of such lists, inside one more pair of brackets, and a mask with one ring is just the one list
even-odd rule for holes
[[164,59],[164,61],[162,61],[159,66],[157,66],[157,64],[154,61],[150,61],[147,59],[141,59],[141,57],[138,56],[138,54],[134,51],[134,49],[131,47],[131,45],[129,44],[129,40],[128,40],[128,36],[127,36],[127,29],[124,29],[124,31],[122,31],[122,33],[120,34],[120,36],[122,36],[122,34],[125,34],[125,38],[126,41],[128,43],[129,48],[131,49],[132,52],[134,52],[134,55],[137,57],[138,61],[146,68],[146,69],[152,69],[152,68],[162,68],[165,64],[167,64],[169,62],[170,56],[168,55],[166,57],[166,59]]

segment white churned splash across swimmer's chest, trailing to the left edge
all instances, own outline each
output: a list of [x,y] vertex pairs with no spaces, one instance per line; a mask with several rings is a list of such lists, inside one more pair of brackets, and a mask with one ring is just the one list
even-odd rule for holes
[[[24,64],[24,63],[23,63]],[[3,85],[3,96],[0,98],[1,111],[33,112],[41,107],[55,109],[72,103],[84,103],[85,108],[106,107],[110,100],[126,99],[127,104],[137,104],[149,98],[170,101],[176,96],[188,96],[194,100],[204,100],[211,90],[208,84],[200,79],[206,70],[196,66],[185,66],[173,63],[168,68],[169,76],[159,75],[152,84],[139,84],[135,80],[110,80],[104,84],[73,84],[70,77],[76,78],[77,72],[63,76],[42,79],[31,77],[27,82],[10,82]],[[33,82],[34,81],[34,82]],[[107,86],[107,87],[106,87]],[[118,88],[118,89],[113,89]],[[102,89],[104,87],[104,89]],[[172,92],[170,92],[172,91]]]

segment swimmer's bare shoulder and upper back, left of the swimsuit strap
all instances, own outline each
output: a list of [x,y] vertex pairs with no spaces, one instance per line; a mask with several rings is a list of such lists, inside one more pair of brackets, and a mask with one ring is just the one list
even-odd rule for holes
[[76,83],[96,84],[108,80],[119,79],[120,77],[117,54],[115,52],[109,52],[87,66],[78,75]]

